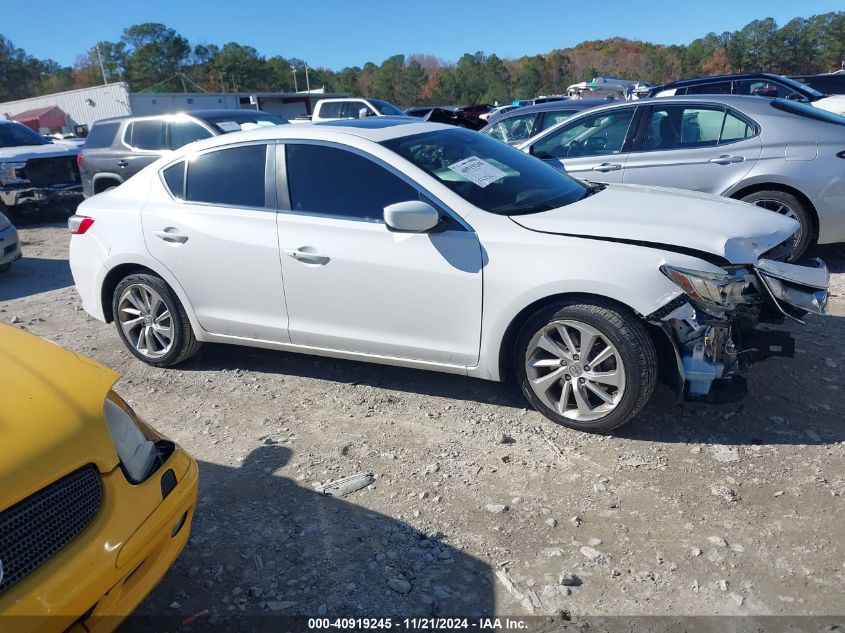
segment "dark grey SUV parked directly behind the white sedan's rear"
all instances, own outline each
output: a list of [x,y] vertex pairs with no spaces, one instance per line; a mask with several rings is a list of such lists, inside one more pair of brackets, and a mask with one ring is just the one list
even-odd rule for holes
[[286,124],[260,110],[194,110],[177,114],[103,119],[94,123],[79,153],[86,198],[117,187],[150,163],[187,143],[242,129]]

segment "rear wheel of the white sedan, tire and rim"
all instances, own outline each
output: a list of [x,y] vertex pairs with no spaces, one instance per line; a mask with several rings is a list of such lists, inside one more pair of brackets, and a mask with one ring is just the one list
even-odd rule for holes
[[112,315],[129,351],[155,367],[177,365],[200,348],[179,298],[156,275],[129,275],[117,284]]

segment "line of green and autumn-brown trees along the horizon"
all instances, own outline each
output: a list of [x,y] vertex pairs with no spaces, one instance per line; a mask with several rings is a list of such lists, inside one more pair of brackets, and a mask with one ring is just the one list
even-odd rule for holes
[[[810,74],[838,70],[845,60],[845,11],[754,20],[743,28],[709,33],[687,45],[664,46],[625,38],[586,41],[545,55],[502,59],[466,53],[457,62],[433,55],[394,55],[334,71],[307,68],[311,88],[380,97],[400,106],[469,104],[561,94],[570,84],[617,76],[662,84],[681,77],[732,71]],[[293,91],[306,87],[305,60],[266,57],[230,42],[191,43],[174,29],[145,23],[119,40],[98,42],[73,66],[40,60],[0,34],[0,101],[126,81],[133,91]],[[295,72],[294,72],[295,70]]]

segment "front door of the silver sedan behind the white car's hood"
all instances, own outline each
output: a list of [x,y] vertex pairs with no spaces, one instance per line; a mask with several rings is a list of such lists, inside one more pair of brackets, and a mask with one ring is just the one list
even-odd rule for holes
[[566,173],[595,182],[621,182],[636,106],[579,116],[541,135],[529,152]]

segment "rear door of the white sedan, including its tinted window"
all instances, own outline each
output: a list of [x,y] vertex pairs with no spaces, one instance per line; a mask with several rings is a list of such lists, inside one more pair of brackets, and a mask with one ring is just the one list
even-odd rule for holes
[[142,211],[147,249],[176,277],[208,332],[289,340],[274,164],[275,144],[201,152],[164,169],[172,199],[151,196]]

